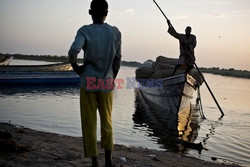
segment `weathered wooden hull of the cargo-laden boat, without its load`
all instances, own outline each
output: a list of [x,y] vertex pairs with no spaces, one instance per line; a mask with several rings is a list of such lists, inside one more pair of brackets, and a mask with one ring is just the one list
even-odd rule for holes
[[175,114],[190,107],[196,83],[190,75],[181,74],[164,78],[162,81],[161,88],[144,87],[140,89],[148,103]]

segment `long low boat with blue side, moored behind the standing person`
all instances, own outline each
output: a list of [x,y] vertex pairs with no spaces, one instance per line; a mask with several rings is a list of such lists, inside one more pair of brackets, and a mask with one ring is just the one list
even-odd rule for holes
[[13,65],[0,67],[0,85],[77,84],[80,77],[69,63],[50,65]]

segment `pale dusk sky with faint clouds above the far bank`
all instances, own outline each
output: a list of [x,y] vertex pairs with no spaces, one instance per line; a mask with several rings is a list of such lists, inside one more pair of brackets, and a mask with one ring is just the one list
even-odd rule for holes
[[[250,70],[250,0],[156,0],[177,32],[192,27],[199,67]],[[91,24],[91,0],[0,0],[0,53],[67,55]],[[106,22],[122,33],[123,60],[178,58],[178,41],[153,0],[108,0]],[[82,57],[82,53],[79,55]]]

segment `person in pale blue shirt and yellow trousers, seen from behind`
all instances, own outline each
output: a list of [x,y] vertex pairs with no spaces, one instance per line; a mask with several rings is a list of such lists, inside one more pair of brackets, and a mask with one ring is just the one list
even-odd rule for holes
[[[114,79],[120,68],[121,33],[118,28],[104,23],[108,14],[106,0],[92,0],[89,14],[93,24],[85,25],[77,31],[68,55],[74,71],[81,77],[80,110],[85,157],[92,158],[93,167],[98,166],[96,137],[96,111],[98,109],[101,147],[105,149],[105,167],[111,167],[111,151],[114,149],[112,90]],[[81,49],[84,51],[84,64],[78,66],[77,55]],[[89,81],[91,81],[91,87],[89,87]],[[110,83],[112,83],[111,86]]]

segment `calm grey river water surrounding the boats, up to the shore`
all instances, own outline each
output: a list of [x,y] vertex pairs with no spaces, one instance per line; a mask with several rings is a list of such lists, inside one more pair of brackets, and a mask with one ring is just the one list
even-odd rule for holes
[[[13,64],[47,63],[13,60]],[[131,67],[121,68],[118,78],[125,81],[123,89],[114,91],[115,143],[171,151],[207,161],[216,157],[220,162],[250,166],[250,79],[204,75],[225,113],[220,118],[220,111],[203,85],[201,99],[207,119],[196,119],[194,142],[201,142],[205,149],[201,152],[190,148],[176,151],[160,140],[149,125],[138,122],[137,112],[144,109],[138,105],[137,90],[126,88],[127,79],[135,76],[135,68]],[[196,94],[193,103],[195,97]],[[79,88],[77,85],[0,87],[0,121],[36,130],[81,136]]]

